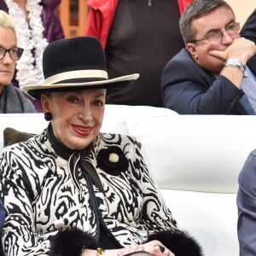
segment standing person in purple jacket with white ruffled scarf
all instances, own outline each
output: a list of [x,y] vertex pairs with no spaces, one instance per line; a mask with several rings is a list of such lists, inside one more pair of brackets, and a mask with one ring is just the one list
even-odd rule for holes
[[[55,13],[60,3],[61,0],[0,0],[0,9],[11,16],[18,44],[24,49],[13,79],[16,86],[22,88],[26,84],[43,83],[44,49],[50,42],[64,38],[61,22]],[[32,102],[37,111],[42,112],[40,101]]]

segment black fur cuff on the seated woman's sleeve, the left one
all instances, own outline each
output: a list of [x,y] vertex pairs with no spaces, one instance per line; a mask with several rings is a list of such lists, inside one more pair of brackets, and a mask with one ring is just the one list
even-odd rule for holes
[[80,256],[82,247],[97,247],[92,236],[82,230],[63,230],[50,240],[49,256]]

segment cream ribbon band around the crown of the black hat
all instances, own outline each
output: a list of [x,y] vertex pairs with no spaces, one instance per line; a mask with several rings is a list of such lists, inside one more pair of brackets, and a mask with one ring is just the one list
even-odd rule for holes
[[45,84],[57,84],[68,79],[108,79],[108,73],[104,70],[75,70],[58,73],[45,79]]

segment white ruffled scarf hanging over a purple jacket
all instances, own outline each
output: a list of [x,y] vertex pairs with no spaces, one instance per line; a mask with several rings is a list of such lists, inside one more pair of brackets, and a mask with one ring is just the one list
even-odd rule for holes
[[26,0],[27,21],[17,3],[13,0],[5,0],[5,3],[15,23],[18,45],[24,49],[16,65],[16,79],[19,81],[20,88],[26,84],[43,84],[42,58],[48,42],[43,34],[44,26],[41,19],[43,7],[39,5],[41,0]]

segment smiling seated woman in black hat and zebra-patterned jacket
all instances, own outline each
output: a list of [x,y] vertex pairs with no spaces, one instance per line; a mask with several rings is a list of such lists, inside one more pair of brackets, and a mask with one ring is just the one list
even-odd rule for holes
[[106,88],[129,86],[138,75],[108,79],[96,38],[57,40],[43,63],[45,84],[23,89],[41,98],[49,126],[0,157],[6,255],[102,255],[97,247],[106,255],[173,255],[148,241],[179,231],[135,138],[100,132]]

